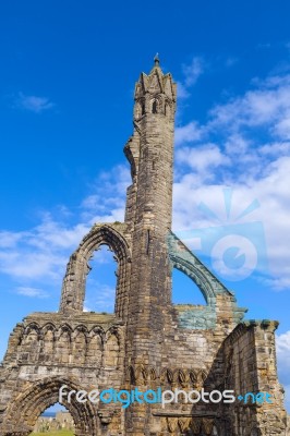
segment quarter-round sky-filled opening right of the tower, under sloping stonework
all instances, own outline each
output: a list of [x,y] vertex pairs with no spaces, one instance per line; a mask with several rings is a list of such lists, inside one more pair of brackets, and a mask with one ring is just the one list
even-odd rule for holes
[[172,303],[205,306],[206,300],[194,281],[178,268],[172,271]]

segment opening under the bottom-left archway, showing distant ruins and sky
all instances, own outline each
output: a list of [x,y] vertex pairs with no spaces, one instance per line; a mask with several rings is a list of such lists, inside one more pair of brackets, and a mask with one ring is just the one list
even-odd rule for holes
[[37,419],[31,436],[40,434],[74,436],[75,426],[71,413],[60,403],[47,408]]

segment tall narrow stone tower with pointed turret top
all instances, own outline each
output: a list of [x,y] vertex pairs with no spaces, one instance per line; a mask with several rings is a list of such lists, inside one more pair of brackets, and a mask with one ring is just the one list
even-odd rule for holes
[[[160,366],[170,304],[168,235],[172,217],[176,84],[159,60],[135,87],[134,134],[125,146],[133,184],[125,223],[132,238],[128,358]],[[145,348],[144,348],[145,346]]]

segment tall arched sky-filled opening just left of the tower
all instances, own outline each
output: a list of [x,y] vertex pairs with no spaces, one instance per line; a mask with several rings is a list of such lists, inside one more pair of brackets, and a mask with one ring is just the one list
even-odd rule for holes
[[113,313],[118,262],[108,245],[100,245],[89,259],[86,280],[85,312]]

